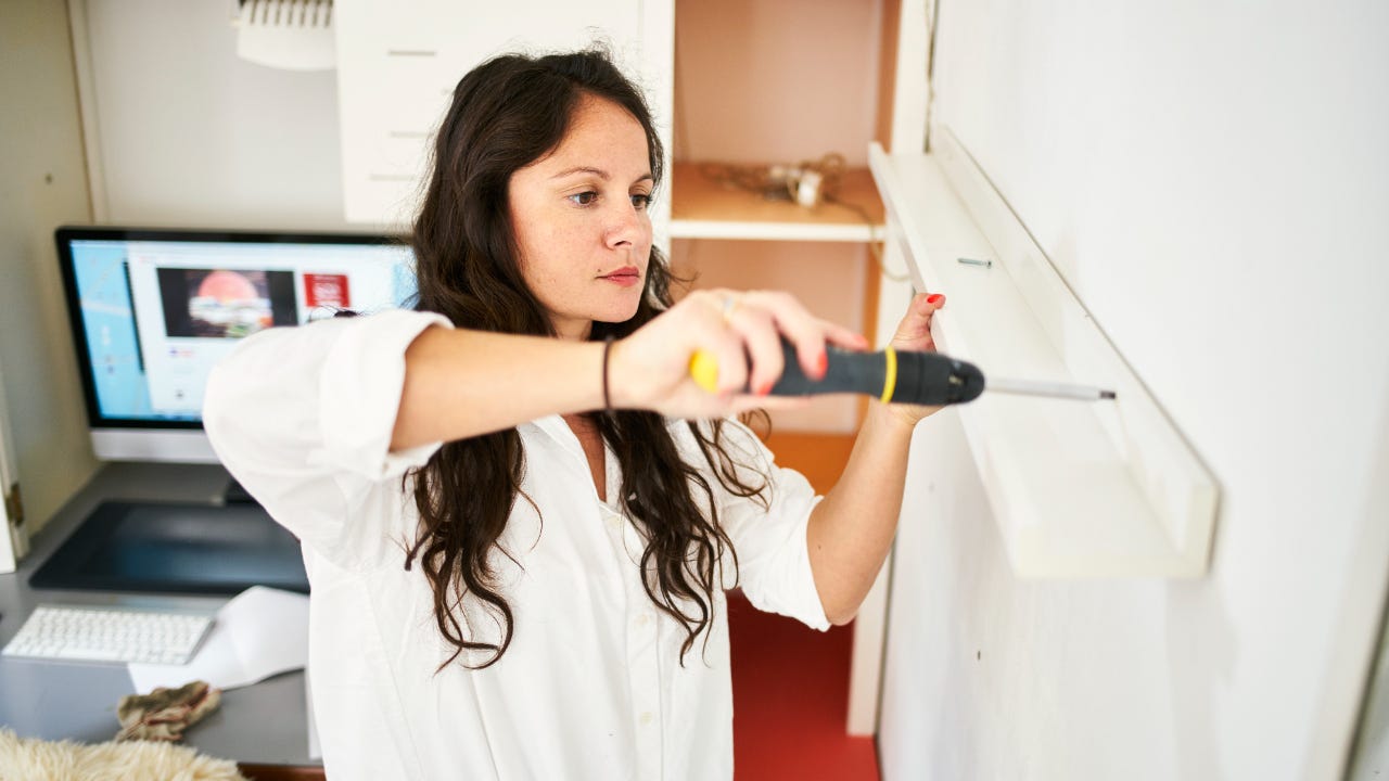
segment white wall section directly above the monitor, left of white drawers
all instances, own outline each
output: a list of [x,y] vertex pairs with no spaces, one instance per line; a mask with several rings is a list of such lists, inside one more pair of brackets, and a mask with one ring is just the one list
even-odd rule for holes
[[351,229],[335,71],[236,57],[226,0],[72,0],[86,17],[97,218]]

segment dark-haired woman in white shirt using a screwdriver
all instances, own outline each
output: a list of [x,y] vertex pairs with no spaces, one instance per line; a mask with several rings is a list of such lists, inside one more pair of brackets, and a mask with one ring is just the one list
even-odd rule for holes
[[[728,778],[724,589],[849,621],[929,410],[874,403],[824,500],[724,420],[799,403],[765,396],[782,336],[813,377],[865,343],[782,293],[671,306],[661,147],[601,54],[479,65],[433,154],[418,311],[267,331],[207,393],[218,454],[303,542],[328,775]],[[931,349],[936,306],[899,349]]]

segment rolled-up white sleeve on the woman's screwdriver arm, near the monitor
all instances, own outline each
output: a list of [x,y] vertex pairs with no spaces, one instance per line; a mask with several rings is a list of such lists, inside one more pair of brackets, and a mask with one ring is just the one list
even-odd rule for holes
[[399,503],[396,479],[439,447],[390,452],[404,353],[432,325],[450,327],[438,314],[390,310],[272,328],[208,378],[203,425],[218,459],[279,524],[339,564],[369,553],[363,535],[382,536],[354,521]]

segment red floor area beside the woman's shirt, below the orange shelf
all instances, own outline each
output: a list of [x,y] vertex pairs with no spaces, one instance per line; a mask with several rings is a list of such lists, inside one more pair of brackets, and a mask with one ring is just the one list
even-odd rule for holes
[[872,738],[845,732],[853,625],[817,632],[728,595],[738,781],[876,781]]

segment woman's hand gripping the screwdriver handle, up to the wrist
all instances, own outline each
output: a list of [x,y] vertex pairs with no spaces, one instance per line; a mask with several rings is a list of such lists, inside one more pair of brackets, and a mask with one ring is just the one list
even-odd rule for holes
[[[868,349],[861,335],[817,318],[789,293],[696,290],[613,345],[610,399],[614,407],[681,418],[801,407],[806,399],[767,396],[782,374],[782,338],[796,345],[801,370],[817,379],[825,374],[826,343]],[[714,392],[690,374],[690,360],[700,350],[717,361]]]

